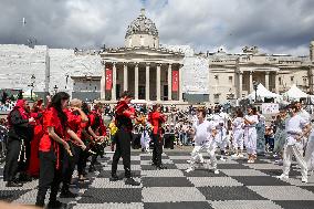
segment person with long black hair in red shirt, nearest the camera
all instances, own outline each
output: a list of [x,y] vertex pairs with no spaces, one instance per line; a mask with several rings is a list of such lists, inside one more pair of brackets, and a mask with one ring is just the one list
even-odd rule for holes
[[[69,128],[67,116],[63,112],[69,103],[70,95],[65,92],[56,93],[46,112],[43,114],[43,137],[39,145],[40,178],[35,206],[43,207],[48,189],[50,201],[48,208],[62,208],[64,203],[56,200],[60,182],[62,180],[63,156],[73,156],[65,140],[66,134],[72,138],[77,135]],[[80,138],[78,138],[80,139]],[[84,148],[84,144],[81,145]]]

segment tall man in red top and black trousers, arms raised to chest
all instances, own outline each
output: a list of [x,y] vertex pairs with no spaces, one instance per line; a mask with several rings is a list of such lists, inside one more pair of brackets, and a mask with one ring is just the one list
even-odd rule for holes
[[126,177],[125,184],[132,186],[139,186],[140,182],[135,181],[130,177],[130,142],[133,130],[132,119],[135,119],[135,112],[128,106],[132,101],[132,97],[133,96],[130,95],[130,93],[125,91],[121,97],[121,101],[115,107],[115,119],[118,130],[115,134],[116,150],[113,157],[111,180],[118,180],[116,171],[118,160],[122,157]]

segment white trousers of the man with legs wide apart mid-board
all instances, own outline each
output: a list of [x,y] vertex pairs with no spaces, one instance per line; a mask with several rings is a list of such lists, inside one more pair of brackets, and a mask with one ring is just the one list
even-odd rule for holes
[[200,151],[203,149],[206,149],[206,151],[208,153],[210,157],[210,164],[211,164],[212,169],[217,169],[217,159],[214,155],[214,151],[216,151],[214,140],[205,143],[202,145],[195,145],[195,148],[191,153],[191,163],[190,163],[191,168],[195,168],[195,164],[200,157]]

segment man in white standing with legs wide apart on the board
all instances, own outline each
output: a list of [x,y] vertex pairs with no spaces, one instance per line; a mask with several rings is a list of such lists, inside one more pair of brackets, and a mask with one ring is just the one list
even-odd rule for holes
[[198,121],[195,122],[192,129],[195,134],[195,148],[191,153],[191,159],[190,159],[190,167],[186,170],[187,173],[190,173],[195,169],[195,163],[197,158],[199,157],[199,153],[202,149],[206,149],[210,157],[210,164],[211,168],[213,169],[214,174],[219,174],[217,169],[217,159],[216,159],[216,142],[214,142],[214,135],[216,135],[216,124],[213,121],[208,122],[205,119],[206,116],[206,109],[205,108],[198,108],[197,111]]

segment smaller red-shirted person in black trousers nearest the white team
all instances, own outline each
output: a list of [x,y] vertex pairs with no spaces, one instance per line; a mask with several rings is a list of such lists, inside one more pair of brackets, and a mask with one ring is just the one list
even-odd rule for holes
[[166,169],[167,167],[161,163],[163,154],[163,129],[161,124],[166,122],[166,116],[160,113],[160,105],[155,104],[153,111],[148,115],[148,122],[153,125],[153,165],[158,169]]

